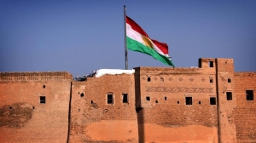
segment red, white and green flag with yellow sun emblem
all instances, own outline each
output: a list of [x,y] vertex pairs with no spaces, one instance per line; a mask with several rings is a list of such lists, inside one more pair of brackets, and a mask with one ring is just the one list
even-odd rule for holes
[[174,66],[168,55],[168,45],[150,39],[143,28],[128,16],[126,16],[126,41],[128,49],[149,54],[166,65]]

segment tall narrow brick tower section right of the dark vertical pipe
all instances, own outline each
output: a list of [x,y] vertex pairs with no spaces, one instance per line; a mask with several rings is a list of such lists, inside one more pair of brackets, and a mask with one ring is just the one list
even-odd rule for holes
[[[234,61],[216,59],[219,142],[236,142]],[[228,97],[231,94],[231,97]]]

